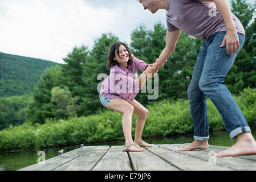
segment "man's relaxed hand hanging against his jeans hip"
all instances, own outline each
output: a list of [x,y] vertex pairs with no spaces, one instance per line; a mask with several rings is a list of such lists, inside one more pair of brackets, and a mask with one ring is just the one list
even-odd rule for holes
[[239,39],[237,31],[227,31],[220,47],[224,47],[226,44],[227,55],[232,56],[233,53],[239,49]]

